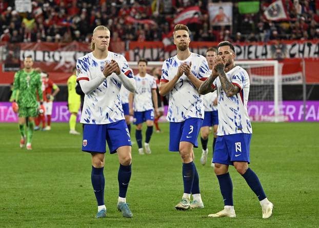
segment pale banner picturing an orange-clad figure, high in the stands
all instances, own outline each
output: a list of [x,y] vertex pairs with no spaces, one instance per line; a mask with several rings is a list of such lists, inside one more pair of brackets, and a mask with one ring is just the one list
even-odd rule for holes
[[208,12],[210,24],[212,26],[232,25],[232,3],[209,3]]

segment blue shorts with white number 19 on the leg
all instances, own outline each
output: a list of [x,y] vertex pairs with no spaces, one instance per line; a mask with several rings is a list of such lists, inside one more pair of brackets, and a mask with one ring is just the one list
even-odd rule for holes
[[213,163],[231,164],[234,161],[250,163],[249,147],[251,134],[232,134],[217,136]]

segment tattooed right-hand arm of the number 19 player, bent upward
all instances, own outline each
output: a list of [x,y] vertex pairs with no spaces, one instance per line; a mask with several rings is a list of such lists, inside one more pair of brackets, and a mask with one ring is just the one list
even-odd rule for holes
[[237,87],[236,85],[231,84],[231,82],[228,80],[224,70],[225,63],[223,62],[223,59],[220,56],[216,57],[215,66],[220,77],[222,88],[225,91],[227,97],[231,97],[235,95],[236,93],[238,93],[240,91],[240,88]]

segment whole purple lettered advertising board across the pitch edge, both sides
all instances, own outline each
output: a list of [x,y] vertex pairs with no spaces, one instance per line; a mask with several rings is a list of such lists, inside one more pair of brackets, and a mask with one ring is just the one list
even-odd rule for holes
[[[281,121],[301,122],[304,121],[303,101],[283,101],[280,107]],[[248,115],[252,121],[272,121],[274,119],[273,101],[248,101]],[[167,114],[167,106],[164,115]],[[53,102],[52,122],[68,122],[70,113],[67,102]],[[81,111],[78,112],[77,121]],[[164,118],[162,118],[164,119]],[[10,102],[0,102],[0,122],[17,122],[17,114],[13,112]],[[307,101],[306,121],[319,121],[319,100]]]

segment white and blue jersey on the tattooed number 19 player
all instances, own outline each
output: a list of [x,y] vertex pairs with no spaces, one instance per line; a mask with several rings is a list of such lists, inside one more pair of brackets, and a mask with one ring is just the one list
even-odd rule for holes
[[249,95],[249,76],[246,70],[235,66],[226,73],[228,80],[240,88],[240,92],[227,97],[220,78],[213,82],[213,88],[217,90],[218,100],[218,136],[246,133],[252,134],[251,122],[247,112]]

